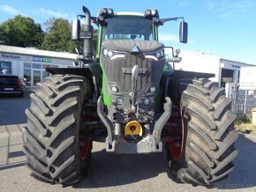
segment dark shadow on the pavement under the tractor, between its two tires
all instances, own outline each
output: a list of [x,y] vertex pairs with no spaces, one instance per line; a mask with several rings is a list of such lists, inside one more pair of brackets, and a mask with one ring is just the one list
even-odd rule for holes
[[73,188],[105,188],[125,185],[156,177],[167,171],[165,153],[116,155],[94,152],[92,164],[84,180]]

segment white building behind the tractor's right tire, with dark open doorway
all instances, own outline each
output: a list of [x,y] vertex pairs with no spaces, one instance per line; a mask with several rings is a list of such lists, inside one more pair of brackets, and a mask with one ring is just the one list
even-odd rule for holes
[[176,70],[213,73],[215,78],[211,78],[211,80],[219,82],[219,85],[222,86],[225,86],[226,83],[238,83],[240,68],[248,66],[247,63],[205,55],[198,51],[181,50],[179,56],[182,57],[182,61],[175,64]]

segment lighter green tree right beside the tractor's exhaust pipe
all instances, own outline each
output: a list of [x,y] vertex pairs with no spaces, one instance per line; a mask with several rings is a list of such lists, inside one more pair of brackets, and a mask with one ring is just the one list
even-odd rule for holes
[[41,49],[75,53],[78,43],[71,40],[71,25],[64,18],[49,18]]

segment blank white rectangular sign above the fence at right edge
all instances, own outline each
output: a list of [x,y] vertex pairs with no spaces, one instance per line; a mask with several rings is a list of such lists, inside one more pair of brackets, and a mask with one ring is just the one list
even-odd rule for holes
[[256,90],[256,66],[255,67],[241,67],[240,90]]

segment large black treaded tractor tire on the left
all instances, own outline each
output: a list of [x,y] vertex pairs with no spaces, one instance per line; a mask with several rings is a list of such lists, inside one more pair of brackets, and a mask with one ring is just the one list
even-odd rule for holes
[[26,165],[41,181],[72,184],[85,174],[91,158],[92,141],[80,136],[83,105],[90,97],[87,79],[54,75],[37,87],[23,129]]

